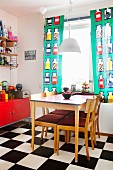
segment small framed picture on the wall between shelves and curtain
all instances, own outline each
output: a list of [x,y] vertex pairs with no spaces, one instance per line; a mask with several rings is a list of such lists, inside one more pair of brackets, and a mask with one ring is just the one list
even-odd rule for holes
[[25,60],[36,60],[36,50],[25,51]]

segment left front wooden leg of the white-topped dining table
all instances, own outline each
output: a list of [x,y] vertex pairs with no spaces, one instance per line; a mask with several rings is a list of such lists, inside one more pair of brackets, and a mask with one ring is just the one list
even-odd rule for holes
[[34,150],[34,137],[35,137],[35,102],[31,102],[31,117],[32,117],[32,140],[31,147]]

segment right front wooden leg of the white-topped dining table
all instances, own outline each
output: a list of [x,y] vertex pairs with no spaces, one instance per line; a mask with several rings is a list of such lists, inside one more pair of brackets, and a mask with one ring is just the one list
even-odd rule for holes
[[78,162],[79,106],[75,106],[75,162]]

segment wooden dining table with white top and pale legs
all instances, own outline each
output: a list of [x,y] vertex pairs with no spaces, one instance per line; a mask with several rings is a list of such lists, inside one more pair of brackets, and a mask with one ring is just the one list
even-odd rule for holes
[[85,108],[86,99],[91,95],[73,95],[69,100],[63,98],[62,94],[49,97],[40,97],[39,94],[31,95],[31,117],[32,117],[32,141],[31,147],[34,150],[34,129],[36,107],[54,108],[75,111],[75,162],[78,162],[78,138],[79,138],[79,110]]

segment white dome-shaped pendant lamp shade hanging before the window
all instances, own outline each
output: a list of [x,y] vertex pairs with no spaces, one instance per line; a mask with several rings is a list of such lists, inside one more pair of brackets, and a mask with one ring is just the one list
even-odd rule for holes
[[66,38],[59,47],[59,53],[78,52],[81,53],[80,47],[74,38]]

